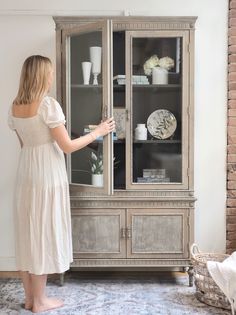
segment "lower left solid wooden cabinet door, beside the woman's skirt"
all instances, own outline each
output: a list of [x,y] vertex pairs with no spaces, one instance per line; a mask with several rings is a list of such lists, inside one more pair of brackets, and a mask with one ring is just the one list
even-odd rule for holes
[[125,209],[72,209],[74,258],[125,258]]

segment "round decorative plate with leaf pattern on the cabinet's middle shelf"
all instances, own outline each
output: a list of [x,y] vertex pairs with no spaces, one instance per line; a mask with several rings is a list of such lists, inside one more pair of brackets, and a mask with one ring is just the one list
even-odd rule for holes
[[155,110],[148,117],[147,128],[150,134],[157,139],[167,139],[177,127],[175,116],[166,109]]

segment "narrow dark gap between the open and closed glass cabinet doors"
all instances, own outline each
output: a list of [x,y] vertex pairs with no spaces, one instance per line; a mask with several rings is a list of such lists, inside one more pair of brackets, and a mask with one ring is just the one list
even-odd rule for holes
[[125,189],[125,32],[113,33],[114,189]]

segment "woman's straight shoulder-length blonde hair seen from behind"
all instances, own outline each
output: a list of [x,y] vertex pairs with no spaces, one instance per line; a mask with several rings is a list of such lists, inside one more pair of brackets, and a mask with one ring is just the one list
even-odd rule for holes
[[52,70],[49,58],[40,55],[28,57],[21,70],[20,84],[13,104],[31,104],[48,92],[48,76]]

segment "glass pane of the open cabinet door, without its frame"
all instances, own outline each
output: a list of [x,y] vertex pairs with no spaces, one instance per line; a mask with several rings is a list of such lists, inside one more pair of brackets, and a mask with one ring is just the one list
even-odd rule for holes
[[[71,137],[90,132],[102,119],[102,32],[70,38]],[[97,79],[97,82],[96,82]],[[71,182],[103,186],[103,139],[71,155]]]

